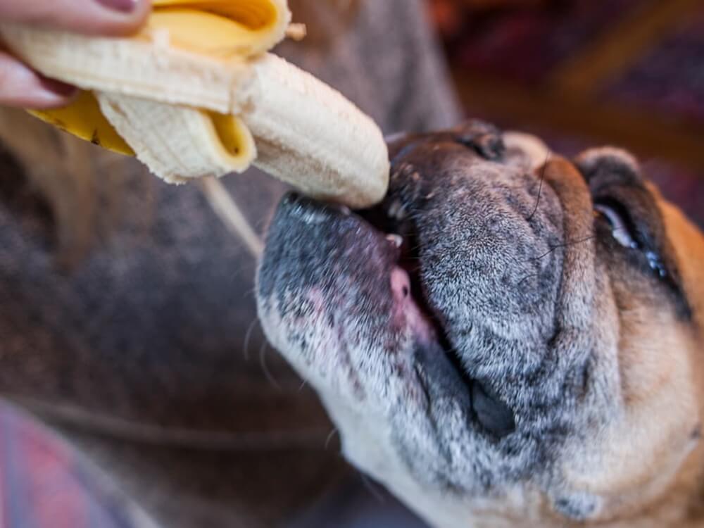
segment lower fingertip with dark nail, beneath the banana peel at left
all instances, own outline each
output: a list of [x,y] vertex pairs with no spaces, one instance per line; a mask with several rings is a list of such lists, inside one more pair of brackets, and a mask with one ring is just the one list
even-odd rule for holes
[[0,51],[0,105],[56,108],[69,103],[76,89],[39,73]]

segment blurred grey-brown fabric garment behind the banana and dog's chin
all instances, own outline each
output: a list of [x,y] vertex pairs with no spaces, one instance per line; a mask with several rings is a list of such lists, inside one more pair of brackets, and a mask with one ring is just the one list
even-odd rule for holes
[[[360,2],[325,49],[287,42],[277,51],[386,133],[458,117],[418,1]],[[332,426],[256,324],[255,263],[196,187],[169,186],[134,165],[115,228],[67,273],[55,266],[45,208],[36,196],[25,203],[17,168],[0,159],[0,187],[15,188],[0,193],[1,394],[82,448],[96,446],[127,491],[170,490],[144,495],[169,527],[271,525],[335,478],[337,456],[317,453]],[[256,170],[224,182],[263,232],[284,185]],[[266,474],[260,486],[257,474]],[[277,475],[287,483],[273,486]],[[221,520],[186,522],[191,502],[208,494]]]

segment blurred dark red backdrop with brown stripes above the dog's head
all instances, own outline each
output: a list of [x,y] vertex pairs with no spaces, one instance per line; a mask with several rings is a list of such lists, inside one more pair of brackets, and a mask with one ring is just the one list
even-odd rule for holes
[[639,155],[704,225],[704,3],[428,0],[467,115]]

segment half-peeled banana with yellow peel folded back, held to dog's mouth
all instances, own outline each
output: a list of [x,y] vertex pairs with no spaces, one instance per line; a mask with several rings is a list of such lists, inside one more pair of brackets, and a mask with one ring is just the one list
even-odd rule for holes
[[0,22],[0,39],[47,77],[80,87],[34,115],[133,154],[169,182],[254,163],[311,196],[382,199],[382,133],[339,92],[266,53],[291,20],[286,0],[153,0],[132,37],[86,37]]

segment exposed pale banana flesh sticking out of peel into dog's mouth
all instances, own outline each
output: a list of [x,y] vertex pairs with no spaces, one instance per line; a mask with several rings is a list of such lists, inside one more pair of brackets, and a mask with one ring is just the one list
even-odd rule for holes
[[242,119],[256,137],[255,165],[315,198],[353,208],[381,200],[389,154],[374,122],[339,92],[275,55],[257,61],[254,71],[253,103]]

